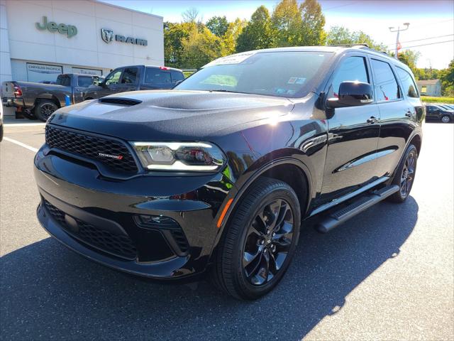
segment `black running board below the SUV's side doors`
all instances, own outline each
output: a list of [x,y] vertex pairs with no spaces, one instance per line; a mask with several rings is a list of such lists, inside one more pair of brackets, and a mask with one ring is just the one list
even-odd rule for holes
[[343,222],[355,217],[358,213],[367,210],[367,208],[386,199],[389,195],[392,195],[397,191],[399,191],[399,186],[391,185],[380,190],[376,190],[368,195],[362,195],[347,207],[343,207],[341,210],[332,212],[327,217],[323,218],[323,220],[317,224],[316,229],[321,233],[330,232],[334,227],[343,224]]

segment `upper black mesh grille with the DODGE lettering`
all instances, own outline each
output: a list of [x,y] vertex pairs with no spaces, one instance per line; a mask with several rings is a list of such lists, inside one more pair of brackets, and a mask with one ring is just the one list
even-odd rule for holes
[[130,151],[119,141],[74,133],[49,125],[45,127],[45,141],[52,148],[60,148],[104,163],[113,171],[123,173],[138,171]]

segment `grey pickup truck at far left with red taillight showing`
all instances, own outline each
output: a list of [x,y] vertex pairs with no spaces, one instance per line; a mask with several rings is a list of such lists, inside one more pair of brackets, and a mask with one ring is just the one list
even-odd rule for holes
[[72,104],[82,102],[83,91],[99,81],[99,76],[67,73],[58,75],[54,84],[3,82],[3,104],[18,107],[29,119],[46,121],[52,112],[65,106],[65,96]]

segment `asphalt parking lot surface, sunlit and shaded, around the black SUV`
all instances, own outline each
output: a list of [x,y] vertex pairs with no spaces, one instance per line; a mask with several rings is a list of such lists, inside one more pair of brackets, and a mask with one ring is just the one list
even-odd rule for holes
[[283,281],[251,303],[126,276],[50,239],[32,172],[43,125],[5,129],[1,340],[454,340],[454,124],[425,124],[409,200],[328,234],[305,224]]

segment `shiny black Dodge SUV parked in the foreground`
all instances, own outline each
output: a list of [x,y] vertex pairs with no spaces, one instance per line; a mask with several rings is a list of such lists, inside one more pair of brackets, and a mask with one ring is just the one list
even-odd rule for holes
[[306,218],[328,232],[409,196],[424,107],[406,65],[364,46],[209,63],[175,90],[59,109],[35,156],[38,220],[62,244],[162,280],[209,274],[255,299]]

